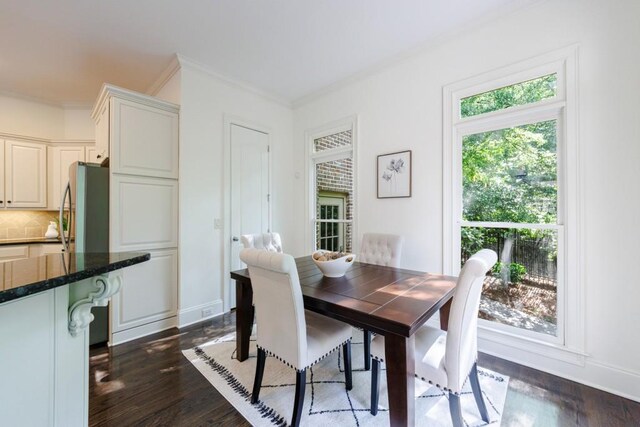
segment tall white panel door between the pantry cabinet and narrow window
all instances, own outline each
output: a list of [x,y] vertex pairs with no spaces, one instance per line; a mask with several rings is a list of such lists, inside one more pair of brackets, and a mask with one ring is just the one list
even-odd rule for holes
[[[243,234],[269,231],[269,135],[231,125],[231,271],[244,268],[239,253]],[[236,306],[229,281],[230,307]]]

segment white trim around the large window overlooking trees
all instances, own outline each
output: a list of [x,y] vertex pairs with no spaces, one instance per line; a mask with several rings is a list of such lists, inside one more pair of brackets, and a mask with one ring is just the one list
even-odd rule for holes
[[[531,121],[554,119],[560,116],[558,127],[558,194],[559,217],[564,224],[552,224],[558,229],[558,238],[564,239],[564,254],[558,256],[558,271],[562,271],[564,286],[558,292],[558,330],[562,329],[562,341],[546,340],[537,333],[495,322],[479,322],[480,338],[509,348],[526,350],[555,359],[584,363],[585,356],[585,298],[582,279],[584,259],[580,244],[582,222],[580,218],[582,197],[580,193],[580,152],[578,146],[578,47],[570,46],[546,55],[529,59],[511,66],[478,75],[443,88],[443,265],[445,274],[457,274],[455,266],[456,236],[459,225],[464,225],[456,214],[460,203],[454,190],[459,188],[461,171],[457,161],[461,156],[461,133],[475,133],[522,124],[527,114]],[[557,95],[536,103],[535,106],[517,106],[499,112],[486,113],[467,118],[459,117],[460,99],[530,80],[535,77],[558,73]],[[495,118],[495,120],[490,120]],[[535,118],[535,120],[534,120]],[[489,120],[488,120],[489,119]],[[541,119],[541,120],[538,120]],[[480,123],[482,122],[482,123]],[[459,153],[456,153],[456,150]],[[566,153],[571,153],[567,156]],[[474,225],[478,223],[474,222]],[[492,225],[492,223],[487,223]],[[523,224],[519,224],[522,227]],[[539,228],[539,227],[538,227]],[[563,233],[564,231],[564,233]],[[459,245],[458,245],[459,247]],[[509,358],[508,355],[503,357]]]

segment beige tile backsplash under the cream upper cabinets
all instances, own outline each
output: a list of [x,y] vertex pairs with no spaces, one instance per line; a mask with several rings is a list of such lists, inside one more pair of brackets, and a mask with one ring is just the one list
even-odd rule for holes
[[57,211],[0,211],[0,240],[44,237]]

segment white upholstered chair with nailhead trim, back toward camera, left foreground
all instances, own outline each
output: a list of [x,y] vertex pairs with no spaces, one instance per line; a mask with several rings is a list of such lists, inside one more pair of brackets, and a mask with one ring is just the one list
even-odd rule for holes
[[291,255],[243,249],[258,319],[258,360],[251,403],[258,402],[267,355],[296,370],[291,425],[300,425],[306,369],[342,347],[345,387],[352,388],[351,326],[304,309],[296,263]]

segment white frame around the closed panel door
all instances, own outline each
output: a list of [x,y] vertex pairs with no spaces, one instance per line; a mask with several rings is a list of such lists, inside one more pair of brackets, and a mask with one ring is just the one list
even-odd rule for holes
[[223,162],[223,227],[222,227],[222,253],[223,253],[223,276],[221,280],[221,288],[222,288],[222,302],[223,302],[223,312],[227,313],[231,310],[230,306],[230,292],[235,292],[234,289],[231,289],[231,126],[236,125],[246,129],[250,129],[256,132],[262,132],[267,135],[267,141],[269,144],[269,154],[268,154],[268,164],[269,164],[269,174],[268,179],[269,183],[267,187],[269,189],[269,205],[268,205],[268,224],[269,229],[272,229],[272,211],[271,207],[273,205],[273,191],[271,183],[272,179],[272,159],[273,159],[273,131],[270,127],[265,126],[261,123],[257,123],[251,120],[244,119],[239,116],[234,116],[232,114],[223,114],[224,120],[224,162]]

